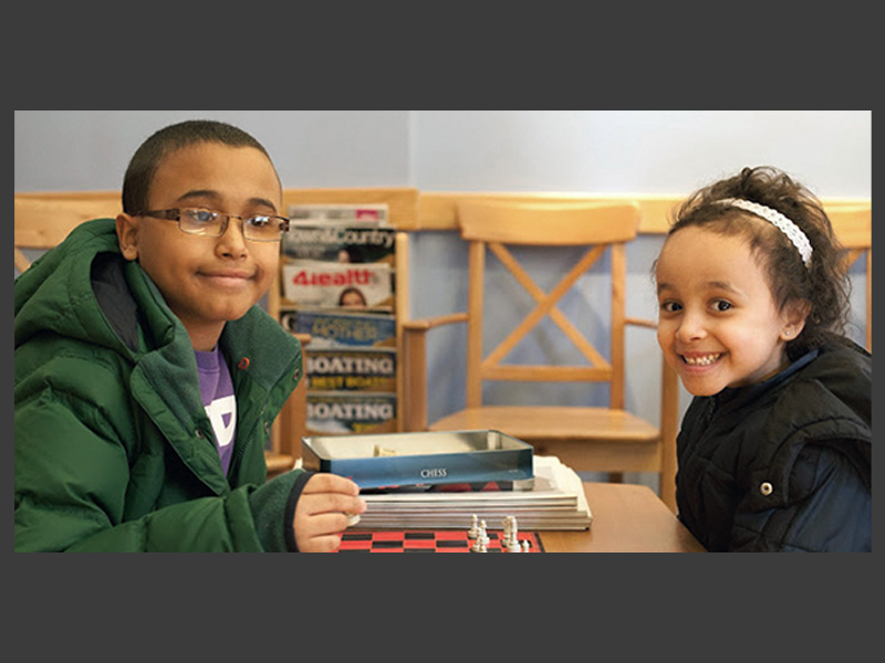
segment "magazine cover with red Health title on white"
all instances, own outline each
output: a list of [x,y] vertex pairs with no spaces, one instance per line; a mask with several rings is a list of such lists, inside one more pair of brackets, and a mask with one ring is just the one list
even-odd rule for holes
[[315,308],[393,309],[393,275],[394,270],[384,263],[290,261],[283,265],[283,296]]

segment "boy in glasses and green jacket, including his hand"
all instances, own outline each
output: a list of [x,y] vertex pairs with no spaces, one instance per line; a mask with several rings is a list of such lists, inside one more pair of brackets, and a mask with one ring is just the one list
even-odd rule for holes
[[17,550],[333,550],[357,486],[263,448],[301,348],[256,304],[288,228],[264,148],[217,122],[133,156],[116,220],[15,282]]

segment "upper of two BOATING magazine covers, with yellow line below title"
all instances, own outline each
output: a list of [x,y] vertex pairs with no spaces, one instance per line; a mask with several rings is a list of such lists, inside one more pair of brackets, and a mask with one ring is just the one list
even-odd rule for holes
[[308,389],[315,391],[396,391],[396,350],[310,350]]

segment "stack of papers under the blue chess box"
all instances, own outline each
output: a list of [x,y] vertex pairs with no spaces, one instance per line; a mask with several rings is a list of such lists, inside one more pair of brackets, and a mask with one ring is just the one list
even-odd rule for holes
[[534,456],[530,491],[364,493],[360,529],[467,529],[472,516],[490,529],[516,516],[520,529],[589,529],[581,478],[554,456]]

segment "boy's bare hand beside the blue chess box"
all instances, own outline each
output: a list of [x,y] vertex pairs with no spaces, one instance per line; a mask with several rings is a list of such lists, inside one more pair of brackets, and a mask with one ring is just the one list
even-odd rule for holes
[[350,478],[320,472],[301,492],[295,505],[295,543],[302,552],[332,552],[341,545],[348,514],[362,514],[366,503]]

